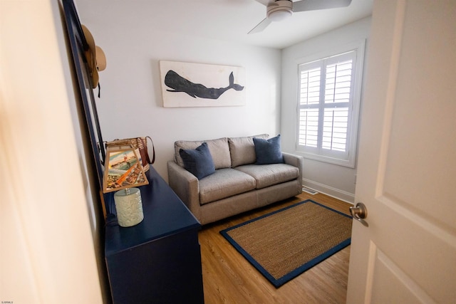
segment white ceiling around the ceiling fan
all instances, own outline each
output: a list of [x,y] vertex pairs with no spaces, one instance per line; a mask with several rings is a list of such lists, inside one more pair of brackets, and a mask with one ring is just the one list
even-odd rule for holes
[[[363,19],[372,14],[373,4],[373,0],[353,0],[345,8],[298,12],[289,19],[271,23],[261,33],[247,34],[266,16],[266,6],[255,0],[75,1],[82,20],[96,19],[98,10],[109,14],[112,8],[113,14],[133,14],[143,23],[147,20],[152,28],[160,26],[165,31],[189,36],[269,48],[286,48]],[[123,9],[114,10],[115,5]]]

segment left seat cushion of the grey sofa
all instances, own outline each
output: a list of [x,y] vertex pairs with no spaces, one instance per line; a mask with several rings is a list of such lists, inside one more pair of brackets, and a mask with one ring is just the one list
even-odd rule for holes
[[199,181],[199,204],[255,189],[255,179],[236,169],[217,169]]

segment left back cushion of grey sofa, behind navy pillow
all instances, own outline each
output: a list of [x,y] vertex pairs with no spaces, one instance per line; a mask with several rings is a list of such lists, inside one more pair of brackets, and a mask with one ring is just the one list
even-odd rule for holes
[[182,157],[180,157],[179,150],[196,149],[203,142],[206,142],[207,147],[209,147],[215,169],[231,167],[227,137],[219,138],[218,140],[178,140],[174,143],[175,161],[177,164],[179,164],[180,167],[184,167],[184,162],[182,161]]

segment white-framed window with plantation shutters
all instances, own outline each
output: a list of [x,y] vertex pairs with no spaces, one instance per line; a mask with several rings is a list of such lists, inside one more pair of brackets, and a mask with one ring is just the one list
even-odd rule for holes
[[299,64],[297,150],[354,167],[363,45]]

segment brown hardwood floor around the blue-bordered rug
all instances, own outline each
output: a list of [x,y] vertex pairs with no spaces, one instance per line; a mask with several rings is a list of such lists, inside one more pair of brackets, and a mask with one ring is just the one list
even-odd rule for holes
[[303,192],[295,198],[203,226],[199,243],[206,304],[346,303],[350,246],[275,288],[219,234],[220,230],[305,199],[350,214],[348,207],[351,204],[325,194]]

